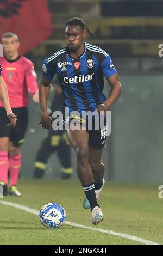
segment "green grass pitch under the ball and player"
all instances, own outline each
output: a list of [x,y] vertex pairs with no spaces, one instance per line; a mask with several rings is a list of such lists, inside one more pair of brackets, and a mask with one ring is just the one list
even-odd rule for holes
[[[61,204],[66,221],[94,227],[91,211],[83,209],[84,192],[77,180],[25,180],[18,183],[22,197],[6,196],[8,201],[40,210],[49,202]],[[99,204],[103,223],[95,228],[134,235],[163,244],[162,205],[158,185],[116,184],[106,182]],[[0,204],[0,245],[143,245],[117,235],[100,233],[64,224],[48,229],[39,216]]]

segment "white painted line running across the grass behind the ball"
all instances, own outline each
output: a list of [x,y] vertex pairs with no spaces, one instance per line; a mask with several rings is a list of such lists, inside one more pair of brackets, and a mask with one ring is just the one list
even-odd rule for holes
[[[35,215],[39,216],[39,211],[37,211],[35,209],[32,209],[32,208],[29,208],[27,206],[23,206],[23,205],[20,205],[20,204],[14,204],[14,203],[3,201],[3,200],[0,200],[0,203],[5,204],[5,205],[10,205],[10,206],[15,207],[17,209],[21,209],[21,210],[30,212],[30,214],[35,214]],[[123,234],[123,233],[118,233],[118,232],[115,232],[115,231],[112,231],[112,230],[105,230],[105,229],[102,229],[102,228],[87,227],[85,225],[80,225],[80,224],[69,222],[69,221],[65,221],[65,224],[71,225],[73,227],[85,228],[85,229],[89,229],[89,230],[93,230],[93,231],[99,231],[99,232],[105,233],[105,234],[120,236],[120,237],[123,237],[123,238],[126,238],[126,239],[130,239],[130,240],[133,240],[133,241],[143,243],[145,245],[159,245],[159,243],[149,241],[149,240],[145,240],[145,239],[142,239],[141,237],[137,237],[137,236],[134,236],[134,235],[127,235],[127,234]]]

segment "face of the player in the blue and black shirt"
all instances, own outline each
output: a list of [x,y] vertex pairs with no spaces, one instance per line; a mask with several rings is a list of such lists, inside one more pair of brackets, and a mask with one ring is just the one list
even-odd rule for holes
[[71,51],[76,51],[83,45],[86,31],[80,26],[68,25],[65,31],[67,46]]

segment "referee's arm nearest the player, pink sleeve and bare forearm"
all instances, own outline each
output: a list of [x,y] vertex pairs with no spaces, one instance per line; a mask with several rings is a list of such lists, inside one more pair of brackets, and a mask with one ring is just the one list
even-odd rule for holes
[[33,63],[28,63],[26,68],[26,82],[33,101],[39,103],[39,88],[36,81],[37,75]]

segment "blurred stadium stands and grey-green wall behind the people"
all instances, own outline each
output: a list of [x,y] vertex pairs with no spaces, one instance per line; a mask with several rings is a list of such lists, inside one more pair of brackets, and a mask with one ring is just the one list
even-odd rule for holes
[[[41,1],[34,2],[40,4]],[[105,178],[116,182],[160,184],[163,177],[163,59],[158,56],[158,46],[163,43],[163,2],[48,0],[47,4],[54,30],[51,36],[40,40],[40,44],[37,43],[36,47],[25,54],[35,64],[38,82],[43,59],[65,46],[65,22],[73,16],[89,22],[88,26],[94,36],[92,39],[88,36],[87,42],[102,47],[110,54],[122,82],[121,98],[111,107],[111,136],[107,139],[102,157],[106,166]],[[21,22],[19,13],[17,19]],[[106,95],[109,89],[105,83]],[[32,101],[29,114],[26,143],[22,148],[22,178],[32,176],[35,154],[46,133],[39,126],[39,106]],[[72,163],[73,178],[77,179],[76,156],[73,151]],[[60,178],[60,164],[55,154],[49,159],[45,178]]]

